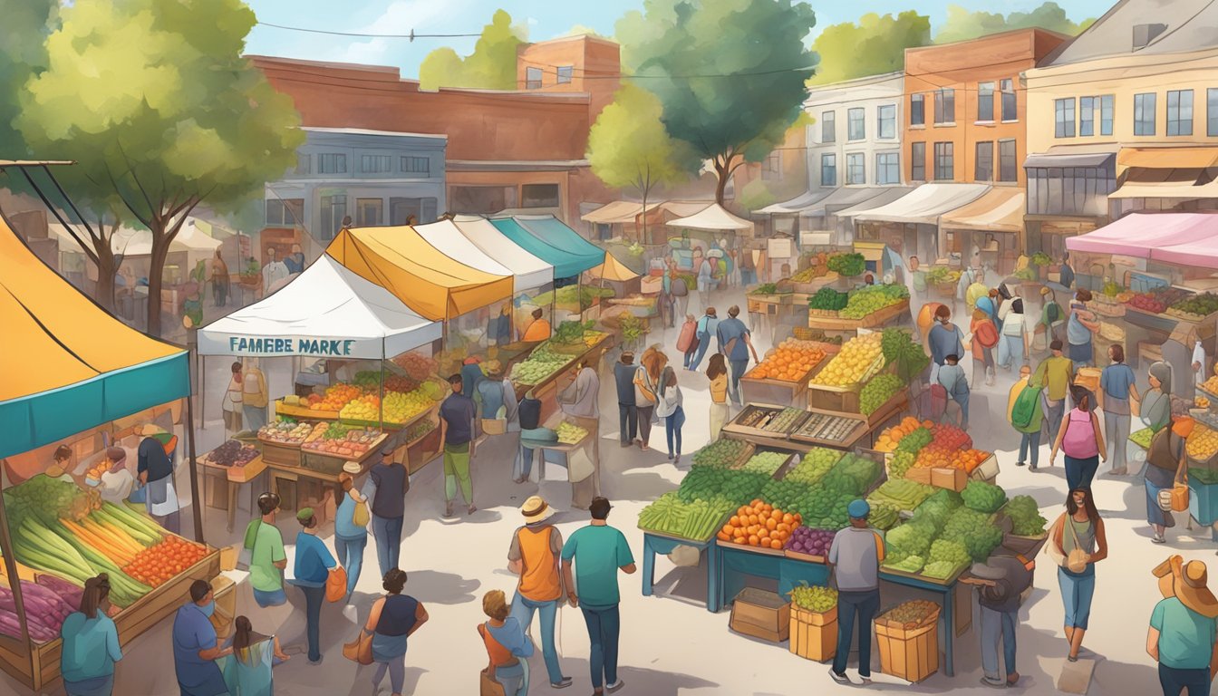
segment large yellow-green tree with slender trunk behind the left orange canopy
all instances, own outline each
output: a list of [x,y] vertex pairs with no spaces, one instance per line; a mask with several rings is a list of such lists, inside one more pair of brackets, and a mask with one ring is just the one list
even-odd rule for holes
[[155,334],[186,217],[203,201],[228,210],[261,195],[304,141],[291,99],[241,56],[255,22],[240,0],[78,1],[61,10],[48,68],[21,95],[15,124],[28,147],[79,162],[62,169],[68,191],[152,233]]

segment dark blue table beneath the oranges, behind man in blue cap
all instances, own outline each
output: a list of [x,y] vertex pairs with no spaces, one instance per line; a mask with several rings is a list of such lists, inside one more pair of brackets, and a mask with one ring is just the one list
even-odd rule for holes
[[[719,575],[719,597],[716,600],[719,608],[727,605],[728,597],[734,597],[741,590],[744,589],[745,577],[749,575],[777,580],[778,594],[783,596],[790,592],[790,590],[800,583],[808,583],[809,585],[827,585],[829,580],[829,568],[822,563],[789,558],[786,556],[758,553],[755,551],[748,551],[747,549],[749,547],[739,546],[737,544],[719,544],[717,541],[714,541],[713,544],[719,546],[719,567],[716,570]],[[952,622],[955,620],[957,583],[954,581],[949,585],[939,585],[924,579],[896,575],[884,570],[879,572],[879,580],[881,583],[892,583],[893,585],[901,585],[904,588],[934,595],[934,600],[943,607],[943,619],[945,625],[954,625]],[[883,596],[883,591],[881,591],[881,596]],[[944,674],[948,676],[955,676],[956,630],[945,630],[943,631],[943,651],[945,655]]]

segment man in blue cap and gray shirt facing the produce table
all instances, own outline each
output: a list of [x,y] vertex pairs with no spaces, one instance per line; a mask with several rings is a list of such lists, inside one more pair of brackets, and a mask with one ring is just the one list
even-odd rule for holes
[[884,539],[867,524],[871,505],[855,499],[847,506],[850,527],[833,535],[826,562],[838,588],[838,645],[843,650],[833,658],[829,676],[849,684],[845,675],[849,646],[854,639],[854,620],[859,618],[859,676],[871,683],[871,619],[879,611],[879,564],[884,562]]

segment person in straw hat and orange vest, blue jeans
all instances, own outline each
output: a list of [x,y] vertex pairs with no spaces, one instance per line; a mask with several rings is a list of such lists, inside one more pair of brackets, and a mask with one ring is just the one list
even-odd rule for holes
[[[540,311],[540,310],[538,310]],[[512,535],[508,549],[508,569],[520,575],[516,596],[512,598],[512,616],[520,628],[529,630],[533,612],[541,612],[541,651],[546,658],[546,672],[553,689],[571,685],[570,676],[563,676],[554,650],[554,618],[566,592],[563,575],[558,572],[558,559],[563,552],[563,535],[549,523],[554,514],[546,499],[531,496],[520,506],[525,525]]]

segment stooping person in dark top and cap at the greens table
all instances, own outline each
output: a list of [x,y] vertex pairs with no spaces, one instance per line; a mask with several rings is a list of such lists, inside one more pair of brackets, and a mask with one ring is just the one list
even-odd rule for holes
[[[961,583],[977,585],[978,603],[982,607],[982,684],[994,689],[1015,686],[1019,673],[1015,668],[1016,628],[1019,622],[1019,602],[1024,590],[1032,586],[1035,563],[1012,551],[1000,549],[985,563],[973,563]],[[1006,662],[1006,679],[998,664],[998,645],[1002,642]]]

